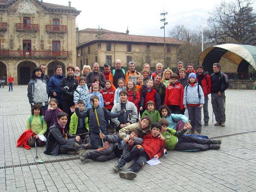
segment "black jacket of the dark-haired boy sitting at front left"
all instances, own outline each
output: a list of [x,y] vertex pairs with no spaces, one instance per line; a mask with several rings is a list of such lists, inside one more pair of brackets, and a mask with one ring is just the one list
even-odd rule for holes
[[75,138],[65,139],[63,137],[62,129],[60,128],[60,125],[58,124],[58,122],[55,122],[49,128],[49,130],[50,131],[47,137],[44,154],[56,156],[58,155],[60,145],[76,142]]

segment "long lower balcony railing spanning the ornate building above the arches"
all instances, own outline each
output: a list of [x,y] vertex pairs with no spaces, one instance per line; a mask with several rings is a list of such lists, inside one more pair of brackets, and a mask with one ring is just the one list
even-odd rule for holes
[[0,57],[44,57],[54,58],[62,57],[68,58],[68,51],[11,51],[0,50]]

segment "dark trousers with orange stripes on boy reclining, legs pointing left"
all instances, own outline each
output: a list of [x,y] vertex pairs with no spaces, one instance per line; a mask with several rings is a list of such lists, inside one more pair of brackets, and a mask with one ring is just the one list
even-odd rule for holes
[[104,144],[106,148],[99,148],[95,151],[89,151],[90,159],[104,162],[116,157],[114,143],[105,142]]

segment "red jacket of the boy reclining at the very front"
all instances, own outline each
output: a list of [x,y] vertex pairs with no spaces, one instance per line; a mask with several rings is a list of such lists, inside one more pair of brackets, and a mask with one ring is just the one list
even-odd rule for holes
[[150,133],[143,137],[142,146],[144,151],[148,154],[150,159],[152,159],[156,154],[160,158],[163,154],[165,140],[160,140],[158,137],[153,137]]

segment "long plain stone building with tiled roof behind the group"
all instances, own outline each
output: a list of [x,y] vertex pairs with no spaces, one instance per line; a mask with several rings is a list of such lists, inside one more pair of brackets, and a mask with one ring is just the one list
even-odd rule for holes
[[[123,66],[134,61],[137,67],[145,63],[153,66],[156,63],[164,63],[164,38],[143,35],[129,35],[113,32],[106,29],[77,28],[77,66],[84,64],[90,66],[98,62],[100,67],[105,62],[112,66],[116,59],[120,59]],[[174,38],[166,38],[166,67],[176,67],[178,52],[184,41]]]

